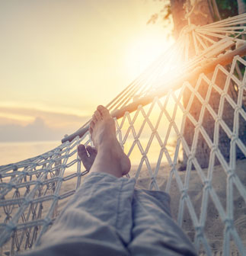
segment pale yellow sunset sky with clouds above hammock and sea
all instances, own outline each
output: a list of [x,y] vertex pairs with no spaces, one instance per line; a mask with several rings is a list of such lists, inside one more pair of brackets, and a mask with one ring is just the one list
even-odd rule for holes
[[172,40],[153,0],[0,0],[0,142],[62,139]]

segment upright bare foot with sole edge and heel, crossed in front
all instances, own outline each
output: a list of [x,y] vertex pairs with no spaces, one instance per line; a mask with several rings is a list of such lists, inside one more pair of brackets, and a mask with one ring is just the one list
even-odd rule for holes
[[116,177],[127,174],[131,164],[117,140],[115,123],[106,107],[97,107],[89,131],[97,149],[91,171],[107,172]]

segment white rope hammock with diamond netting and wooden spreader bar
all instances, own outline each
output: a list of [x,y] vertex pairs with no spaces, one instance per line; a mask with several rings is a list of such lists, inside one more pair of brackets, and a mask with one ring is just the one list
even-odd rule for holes
[[[200,254],[245,255],[245,24],[241,14],[186,27],[107,105],[132,162],[129,175],[171,194],[172,215]],[[91,144],[88,123],[56,149],[0,167],[0,254],[31,248],[50,228],[88,173],[80,143]]]

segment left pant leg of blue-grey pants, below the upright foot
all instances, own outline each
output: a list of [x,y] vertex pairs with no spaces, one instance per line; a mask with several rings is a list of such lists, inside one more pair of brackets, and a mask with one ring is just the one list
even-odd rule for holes
[[135,179],[93,172],[51,229],[24,255],[129,255]]

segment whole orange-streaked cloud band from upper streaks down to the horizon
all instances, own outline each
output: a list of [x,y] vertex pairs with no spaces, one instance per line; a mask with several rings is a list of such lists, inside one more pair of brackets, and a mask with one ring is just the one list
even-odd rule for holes
[[24,107],[0,106],[0,142],[60,140],[89,116]]

